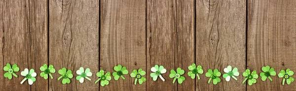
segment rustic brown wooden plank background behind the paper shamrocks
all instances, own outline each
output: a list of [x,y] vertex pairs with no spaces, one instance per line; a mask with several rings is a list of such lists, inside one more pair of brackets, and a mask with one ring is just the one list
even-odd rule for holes
[[[0,0],[0,90],[1,91],[294,91],[296,82],[282,79],[249,86],[244,77],[218,85],[187,76],[196,63],[219,69],[227,65],[239,72],[270,65],[278,73],[296,71],[296,0]],[[3,77],[3,66],[17,63],[20,70],[33,68],[37,81],[21,85],[17,78]],[[75,71],[89,67],[113,72],[122,64],[129,72],[143,68],[147,81],[134,85],[134,78],[110,81],[101,87],[71,79],[62,85],[39,76],[39,67],[53,64],[56,70]],[[167,71],[152,81],[150,68],[185,69],[185,82],[173,84]],[[295,76],[294,76],[295,78]]]

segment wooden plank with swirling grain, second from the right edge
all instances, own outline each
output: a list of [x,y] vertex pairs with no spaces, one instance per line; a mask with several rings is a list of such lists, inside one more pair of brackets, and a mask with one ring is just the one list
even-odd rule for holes
[[[223,69],[228,65],[242,73],[246,68],[246,1],[196,0],[196,64],[202,65],[204,74],[196,80],[196,91],[243,91],[243,77],[237,81],[208,84],[208,69]],[[231,88],[230,88],[231,87]]]

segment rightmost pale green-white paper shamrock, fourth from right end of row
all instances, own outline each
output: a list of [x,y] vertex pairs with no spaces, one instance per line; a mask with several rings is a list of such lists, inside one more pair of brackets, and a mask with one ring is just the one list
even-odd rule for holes
[[224,68],[224,72],[226,74],[223,74],[223,78],[225,78],[227,82],[230,81],[230,77],[232,77],[234,80],[237,80],[237,78],[234,77],[239,75],[239,72],[237,70],[237,67],[234,67],[232,70],[232,67],[230,65],[227,66],[227,68]]

